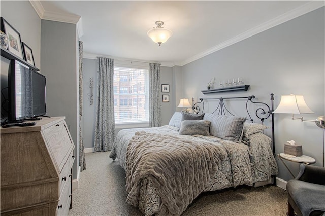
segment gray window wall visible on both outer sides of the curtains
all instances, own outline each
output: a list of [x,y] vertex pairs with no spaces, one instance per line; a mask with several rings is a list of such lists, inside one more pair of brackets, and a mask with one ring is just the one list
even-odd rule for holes
[[[164,93],[169,95],[170,102],[161,102],[161,123],[167,125],[170,118],[174,113],[174,102],[175,102],[175,88],[173,85],[173,69],[171,67],[160,68],[161,84],[169,84],[170,92]],[[96,101],[97,101],[97,89],[98,89],[98,61],[96,59],[83,59],[83,139],[85,148],[92,148],[94,145],[94,129],[96,121]],[[89,96],[89,80],[93,78],[93,105],[90,105]],[[161,93],[163,94],[163,93]],[[116,129],[116,133],[121,128]]]

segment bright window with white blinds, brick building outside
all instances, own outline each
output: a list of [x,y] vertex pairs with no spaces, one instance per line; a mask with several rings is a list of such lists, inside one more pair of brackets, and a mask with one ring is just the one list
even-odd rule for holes
[[119,78],[114,79],[115,123],[148,122],[149,70],[115,66],[115,77]]

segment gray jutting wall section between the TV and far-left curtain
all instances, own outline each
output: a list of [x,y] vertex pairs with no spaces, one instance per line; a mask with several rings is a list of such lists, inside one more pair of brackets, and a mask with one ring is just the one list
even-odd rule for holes
[[79,59],[75,24],[42,20],[41,64],[46,76],[47,114],[65,116],[75,143],[73,178],[79,169]]

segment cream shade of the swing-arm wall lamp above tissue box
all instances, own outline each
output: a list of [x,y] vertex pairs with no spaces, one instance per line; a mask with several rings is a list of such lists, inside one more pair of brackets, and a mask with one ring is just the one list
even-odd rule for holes
[[304,100],[303,95],[282,95],[277,109],[273,113],[306,114],[314,113]]

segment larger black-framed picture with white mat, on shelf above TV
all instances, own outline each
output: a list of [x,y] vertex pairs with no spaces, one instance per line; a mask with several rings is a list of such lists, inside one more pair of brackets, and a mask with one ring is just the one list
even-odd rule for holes
[[8,50],[16,56],[24,59],[21,49],[20,33],[1,17],[1,30],[7,34],[9,40]]

